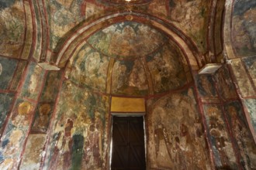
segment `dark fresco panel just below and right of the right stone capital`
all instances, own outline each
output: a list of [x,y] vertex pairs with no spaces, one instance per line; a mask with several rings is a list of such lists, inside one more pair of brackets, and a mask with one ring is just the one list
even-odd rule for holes
[[227,66],[221,67],[213,76],[216,82],[219,96],[223,100],[237,98],[237,91],[234,87],[234,83],[231,80],[231,76]]

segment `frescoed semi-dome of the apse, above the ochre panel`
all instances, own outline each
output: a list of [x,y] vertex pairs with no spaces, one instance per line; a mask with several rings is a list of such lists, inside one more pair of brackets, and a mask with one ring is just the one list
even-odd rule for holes
[[74,53],[67,78],[101,93],[144,96],[188,83],[188,64],[179,47],[142,23],[108,26],[89,36]]

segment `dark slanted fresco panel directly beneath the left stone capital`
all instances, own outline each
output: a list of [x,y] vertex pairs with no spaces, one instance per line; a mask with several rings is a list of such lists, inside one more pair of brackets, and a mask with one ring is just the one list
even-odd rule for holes
[[40,96],[40,101],[54,102],[61,82],[61,71],[49,71]]

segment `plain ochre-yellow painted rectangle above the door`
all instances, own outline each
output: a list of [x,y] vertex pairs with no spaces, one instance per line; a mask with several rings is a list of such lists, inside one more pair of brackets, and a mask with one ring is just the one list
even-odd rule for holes
[[144,98],[111,97],[113,112],[145,112]]

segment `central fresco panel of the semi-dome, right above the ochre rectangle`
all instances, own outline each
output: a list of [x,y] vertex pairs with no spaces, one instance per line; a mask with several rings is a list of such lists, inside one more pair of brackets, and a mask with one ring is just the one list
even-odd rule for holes
[[112,93],[146,95],[147,90],[147,75],[139,59],[116,61],[112,71]]

